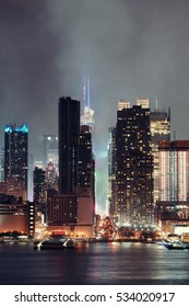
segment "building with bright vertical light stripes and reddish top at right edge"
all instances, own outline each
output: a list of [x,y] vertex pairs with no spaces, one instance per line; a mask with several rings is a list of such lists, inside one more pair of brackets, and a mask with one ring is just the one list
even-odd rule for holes
[[160,141],[160,204],[189,216],[189,140]]

